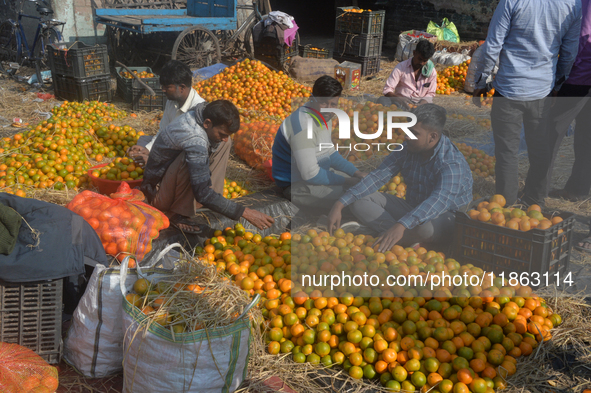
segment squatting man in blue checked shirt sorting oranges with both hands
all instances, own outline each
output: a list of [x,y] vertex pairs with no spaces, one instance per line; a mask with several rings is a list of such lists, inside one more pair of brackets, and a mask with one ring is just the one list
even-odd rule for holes
[[[445,109],[424,104],[413,113],[417,124],[410,130],[417,139],[407,136],[402,151],[390,153],[335,203],[328,215],[331,233],[340,227],[343,208],[352,205],[357,219],[379,233],[379,252],[396,244],[451,240],[453,212],[465,210],[472,201],[472,173],[462,153],[443,135]],[[377,192],[398,172],[408,184],[406,200]]]

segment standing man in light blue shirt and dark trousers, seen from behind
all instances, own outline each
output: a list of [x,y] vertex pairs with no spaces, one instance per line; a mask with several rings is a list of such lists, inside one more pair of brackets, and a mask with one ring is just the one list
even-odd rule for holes
[[483,69],[475,74],[474,103],[480,106],[486,79],[498,59],[491,123],[496,193],[507,205],[518,196],[522,125],[530,167],[521,202],[544,205],[549,164],[544,122],[551,105],[546,97],[556,95],[564,83],[577,55],[580,29],[581,0],[500,0],[495,9]]

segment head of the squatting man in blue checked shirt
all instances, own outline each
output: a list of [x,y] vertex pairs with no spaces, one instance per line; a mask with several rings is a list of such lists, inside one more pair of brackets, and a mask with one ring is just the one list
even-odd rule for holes
[[417,139],[406,136],[406,148],[411,153],[429,154],[439,143],[445,127],[447,112],[439,105],[423,104],[413,109],[417,124],[410,131]]

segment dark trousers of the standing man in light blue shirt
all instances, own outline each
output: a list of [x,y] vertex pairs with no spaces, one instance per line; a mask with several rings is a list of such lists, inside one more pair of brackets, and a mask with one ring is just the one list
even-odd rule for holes
[[495,93],[491,109],[491,125],[495,141],[495,188],[505,197],[507,204],[517,201],[519,192],[519,142],[522,125],[529,158],[529,171],[525,180],[524,202],[544,204],[548,173],[549,150],[547,127],[543,122],[548,116],[550,100],[545,97],[533,101],[519,101]]

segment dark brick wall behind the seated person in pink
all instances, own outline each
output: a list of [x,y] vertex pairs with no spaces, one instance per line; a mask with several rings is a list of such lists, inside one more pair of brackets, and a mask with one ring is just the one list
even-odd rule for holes
[[406,30],[425,30],[447,17],[454,22],[462,41],[484,40],[498,0],[389,0],[384,34],[386,45],[395,46]]

